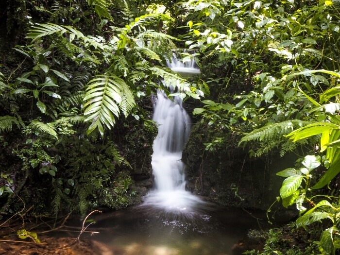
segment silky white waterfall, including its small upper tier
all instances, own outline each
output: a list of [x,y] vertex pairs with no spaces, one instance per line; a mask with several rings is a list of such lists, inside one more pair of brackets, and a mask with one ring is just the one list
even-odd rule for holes
[[[174,58],[168,66],[182,76],[200,73],[192,63],[183,64]],[[163,91],[157,91],[153,120],[159,125],[153,143],[152,167],[155,189],[145,197],[144,205],[170,211],[189,210],[204,203],[186,190],[182,151],[190,132],[190,118],[182,106],[182,100],[171,101]]]

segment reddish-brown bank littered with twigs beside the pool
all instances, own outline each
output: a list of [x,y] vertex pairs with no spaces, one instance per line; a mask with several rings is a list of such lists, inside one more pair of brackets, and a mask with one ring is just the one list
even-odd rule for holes
[[[46,221],[37,222],[23,219],[0,221],[0,255],[122,255],[119,250],[112,251],[105,244],[81,238],[80,233],[73,233],[72,237],[58,237],[54,230],[63,230],[62,222],[59,227],[46,230]],[[42,228],[41,225],[45,225]],[[58,225],[57,225],[58,226]],[[27,230],[27,231],[26,231]],[[83,229],[84,230],[84,229]],[[20,231],[23,233],[18,237]],[[73,231],[74,232],[74,231]],[[87,231],[90,232],[90,231]],[[74,236],[77,236],[75,238]],[[88,234],[88,233],[87,233]],[[60,236],[60,235],[59,235]],[[70,235],[71,236],[71,235]]]

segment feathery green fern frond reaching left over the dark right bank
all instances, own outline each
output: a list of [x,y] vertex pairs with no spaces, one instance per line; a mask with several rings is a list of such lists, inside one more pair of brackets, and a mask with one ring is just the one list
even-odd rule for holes
[[250,141],[270,141],[274,140],[276,136],[288,135],[292,130],[307,125],[308,121],[299,119],[286,120],[274,124],[269,124],[258,129],[253,130],[249,134],[243,136],[239,141],[239,145],[243,142]]

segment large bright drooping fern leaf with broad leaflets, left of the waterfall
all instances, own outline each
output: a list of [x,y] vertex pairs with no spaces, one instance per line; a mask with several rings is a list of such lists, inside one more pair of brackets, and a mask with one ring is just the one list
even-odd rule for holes
[[111,129],[116,123],[115,116],[119,117],[118,104],[122,101],[121,90],[127,86],[125,82],[115,75],[98,75],[89,81],[84,97],[85,121],[92,121],[88,133],[98,128],[104,135],[104,126]]

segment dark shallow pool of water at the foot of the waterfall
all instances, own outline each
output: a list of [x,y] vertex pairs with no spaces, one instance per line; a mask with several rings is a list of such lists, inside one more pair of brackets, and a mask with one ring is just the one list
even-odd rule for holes
[[238,255],[235,247],[248,230],[259,229],[257,217],[211,204],[185,213],[134,206],[91,216],[96,223],[87,230],[100,233],[82,238],[100,241],[114,255]]

